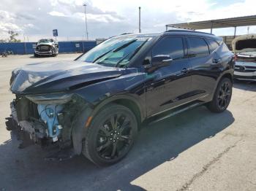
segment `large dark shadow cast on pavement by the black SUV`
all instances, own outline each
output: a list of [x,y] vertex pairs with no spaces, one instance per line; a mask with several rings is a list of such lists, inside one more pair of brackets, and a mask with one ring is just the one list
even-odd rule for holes
[[144,125],[129,155],[107,168],[99,168],[84,157],[47,162],[39,147],[17,149],[18,141],[12,139],[0,146],[0,190],[143,190],[130,182],[233,122],[229,111],[213,114],[200,106]]

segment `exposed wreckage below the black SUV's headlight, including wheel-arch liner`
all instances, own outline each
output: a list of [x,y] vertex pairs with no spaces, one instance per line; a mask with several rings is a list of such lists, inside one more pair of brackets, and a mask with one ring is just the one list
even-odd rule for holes
[[47,157],[50,160],[79,155],[91,105],[76,94],[65,104],[59,104],[56,99],[43,104],[35,103],[35,99],[33,101],[17,95],[11,103],[12,114],[7,117],[6,125],[7,130],[14,130],[22,141],[19,147],[39,144],[44,149],[56,150],[54,155]]

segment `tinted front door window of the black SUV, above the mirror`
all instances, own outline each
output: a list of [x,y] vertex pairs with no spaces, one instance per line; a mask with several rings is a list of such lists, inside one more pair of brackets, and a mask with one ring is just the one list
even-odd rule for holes
[[161,39],[153,49],[154,55],[170,55],[173,59],[184,57],[182,38],[166,37]]

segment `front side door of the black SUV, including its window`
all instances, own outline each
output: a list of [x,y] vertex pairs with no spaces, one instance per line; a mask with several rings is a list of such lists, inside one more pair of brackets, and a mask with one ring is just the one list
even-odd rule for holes
[[182,37],[163,37],[153,47],[151,56],[170,55],[169,66],[148,74],[146,101],[148,115],[157,114],[184,103],[191,87],[187,47]]

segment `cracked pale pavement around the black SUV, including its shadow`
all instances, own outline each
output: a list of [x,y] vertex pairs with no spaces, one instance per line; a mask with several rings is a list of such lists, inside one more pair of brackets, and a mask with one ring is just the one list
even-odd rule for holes
[[49,162],[38,146],[18,149],[5,129],[10,72],[78,55],[0,58],[0,190],[256,190],[256,83],[236,82],[222,114],[204,106],[145,125],[120,163],[99,168],[84,157]]

